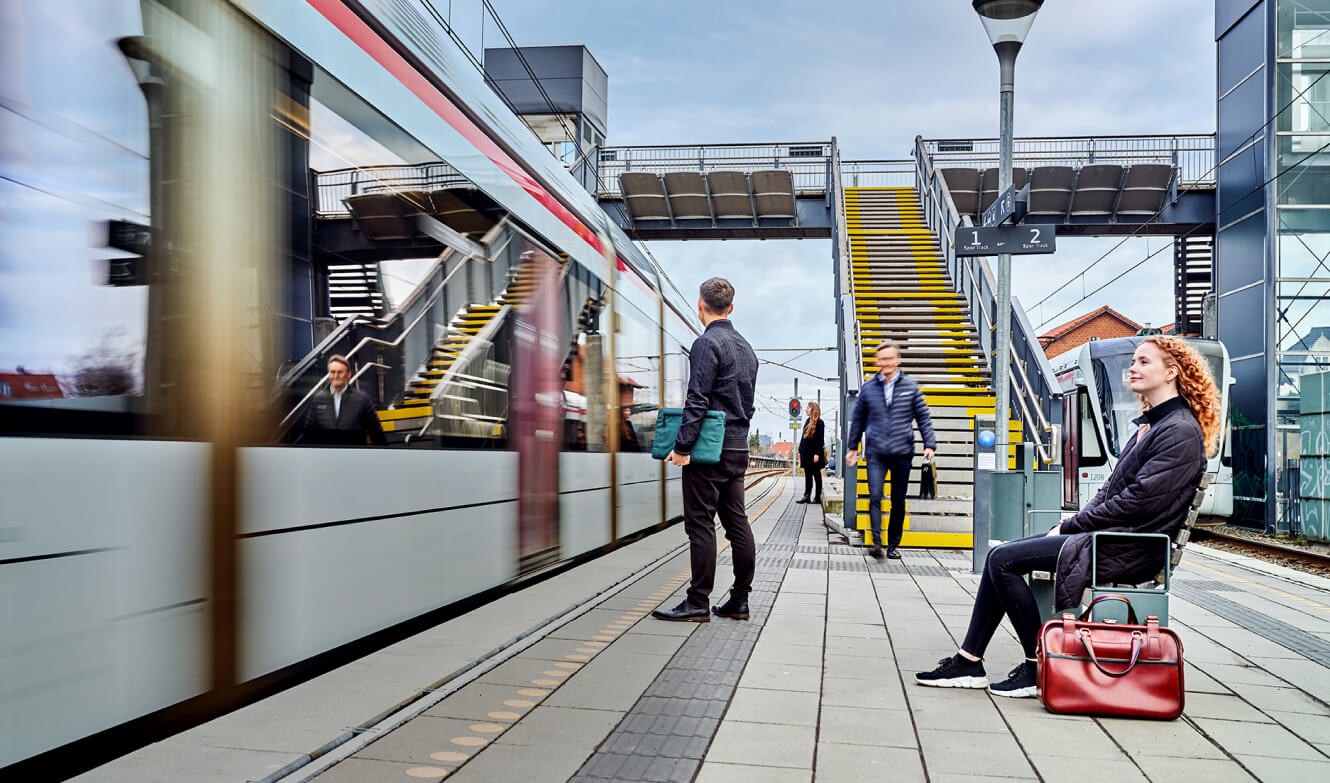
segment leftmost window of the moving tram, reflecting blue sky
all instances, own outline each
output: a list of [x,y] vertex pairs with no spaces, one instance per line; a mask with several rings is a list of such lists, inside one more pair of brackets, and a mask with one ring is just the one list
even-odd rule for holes
[[142,429],[148,286],[141,255],[109,247],[110,221],[152,222],[148,104],[116,45],[142,24],[81,5],[20,4],[0,31],[0,81],[20,98],[7,105],[0,183],[5,433]]

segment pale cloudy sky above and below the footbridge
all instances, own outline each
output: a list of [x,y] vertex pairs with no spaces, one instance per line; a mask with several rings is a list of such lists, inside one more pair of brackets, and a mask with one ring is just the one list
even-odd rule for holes
[[[910,157],[915,136],[998,136],[998,60],[962,0],[817,4],[493,0],[519,44],[585,44],[609,74],[608,145],[754,144],[837,137],[846,160]],[[455,0],[455,7],[466,5]],[[476,40],[479,17],[455,19]],[[497,33],[485,32],[493,45]],[[1016,65],[1016,136],[1212,133],[1213,0],[1049,0]],[[1173,322],[1172,251],[1077,303],[1166,239],[1132,239],[1084,279],[1116,238],[1059,238],[1053,255],[1017,257],[1012,291],[1036,328],[1108,304],[1137,322]],[[829,241],[652,242],[678,288],[722,275],[734,324],[755,348],[835,346]],[[1065,314],[1059,311],[1073,306]],[[1043,315],[1040,315],[1040,312]],[[787,360],[795,352],[759,354]],[[783,359],[782,359],[783,358]],[[837,375],[835,352],[793,366]],[[906,367],[908,371],[908,367]],[[763,433],[789,433],[795,374],[763,364]],[[799,376],[799,393],[835,416],[835,382]]]

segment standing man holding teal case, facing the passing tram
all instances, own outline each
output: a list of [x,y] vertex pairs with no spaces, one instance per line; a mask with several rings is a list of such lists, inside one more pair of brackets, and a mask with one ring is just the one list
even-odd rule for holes
[[[702,283],[697,316],[706,330],[693,340],[689,354],[688,399],[669,461],[684,468],[684,530],[692,553],[693,581],[688,598],[674,609],[657,609],[657,619],[708,622],[720,617],[747,619],[757,553],[753,529],[743,509],[743,473],[747,471],[747,428],[753,419],[757,386],[757,354],[729,315],[734,311],[734,286],[712,278]],[[692,465],[689,453],[702,431],[708,411],[725,412],[725,444],[721,461]],[[716,516],[734,554],[734,586],[725,604],[712,608],[716,582]]]

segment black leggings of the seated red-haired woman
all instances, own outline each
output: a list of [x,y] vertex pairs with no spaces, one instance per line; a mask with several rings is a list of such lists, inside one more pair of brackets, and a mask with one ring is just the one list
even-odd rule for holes
[[1032,570],[1057,570],[1057,553],[1067,538],[1068,536],[1031,536],[1008,541],[988,552],[962,650],[983,658],[1005,613],[1016,629],[1025,657],[1035,657],[1035,638],[1043,625],[1043,614],[1035,605],[1035,594],[1021,577]]

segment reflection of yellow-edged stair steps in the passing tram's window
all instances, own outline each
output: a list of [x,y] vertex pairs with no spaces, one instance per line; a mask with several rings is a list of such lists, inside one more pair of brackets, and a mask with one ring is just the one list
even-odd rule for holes
[[466,347],[479,335],[489,322],[504,307],[520,307],[535,290],[535,278],[539,267],[536,263],[524,263],[517,267],[508,286],[499,294],[492,304],[468,304],[454,316],[443,338],[434,344],[430,358],[426,360],[415,378],[407,384],[402,404],[387,411],[379,411],[379,420],[383,431],[400,433],[403,437],[419,432],[430,420],[432,408],[430,396],[448,374],[448,370],[458,362]]

